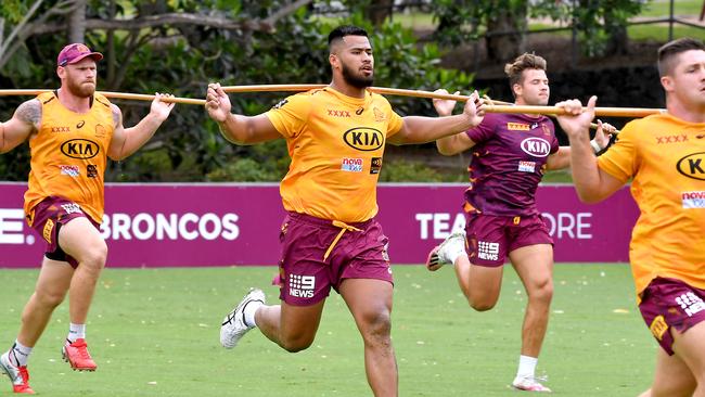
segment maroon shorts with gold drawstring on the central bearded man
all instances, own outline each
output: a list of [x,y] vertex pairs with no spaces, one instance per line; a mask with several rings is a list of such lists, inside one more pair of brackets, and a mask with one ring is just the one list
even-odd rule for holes
[[297,213],[286,216],[279,236],[280,299],[310,306],[324,299],[331,287],[338,291],[345,279],[393,282],[388,239],[376,219],[348,225],[360,231],[346,230],[335,242],[344,229],[331,220]]

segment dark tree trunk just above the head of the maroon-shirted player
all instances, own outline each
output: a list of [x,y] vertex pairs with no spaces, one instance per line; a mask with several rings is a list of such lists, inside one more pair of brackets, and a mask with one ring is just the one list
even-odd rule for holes
[[516,9],[503,9],[487,21],[487,59],[493,62],[511,61],[526,49],[527,4]]

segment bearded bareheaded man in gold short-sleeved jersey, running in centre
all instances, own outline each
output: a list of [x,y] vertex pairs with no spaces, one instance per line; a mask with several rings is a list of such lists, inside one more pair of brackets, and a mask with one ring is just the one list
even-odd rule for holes
[[280,187],[289,212],[280,232],[281,305],[265,305],[264,292],[253,290],[226,317],[220,342],[232,348],[257,326],[287,351],[306,349],[333,289],[362,336],[372,393],[397,396],[388,240],[375,218],[384,145],[431,142],[476,126],[482,101],[475,92],[478,107],[467,101],[463,114],[400,117],[367,90],[374,76],[367,31],[338,27],[329,35],[329,49],[330,86],[289,97],[257,116],[232,114],[220,86],[208,86],[206,108],[226,139],[252,144],[283,138],[292,157]]

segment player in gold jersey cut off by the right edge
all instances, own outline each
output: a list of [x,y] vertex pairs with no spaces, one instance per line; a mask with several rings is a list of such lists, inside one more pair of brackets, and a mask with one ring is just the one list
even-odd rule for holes
[[629,261],[639,310],[661,345],[654,381],[642,397],[705,397],[705,44],[683,38],[658,50],[664,114],[625,126],[594,157],[588,126],[595,98],[559,121],[571,140],[578,195],[600,202],[631,179],[641,215]]

